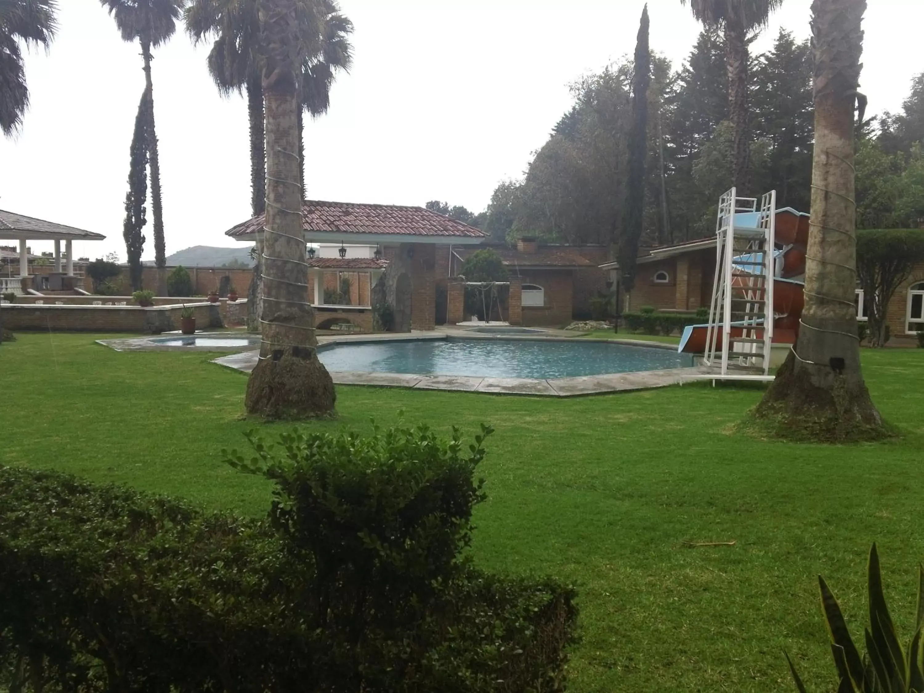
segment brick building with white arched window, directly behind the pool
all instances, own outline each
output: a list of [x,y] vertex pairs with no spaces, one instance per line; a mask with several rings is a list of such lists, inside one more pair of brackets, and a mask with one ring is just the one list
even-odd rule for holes
[[609,290],[607,273],[599,266],[608,257],[607,248],[540,245],[533,238],[520,238],[516,248],[482,245],[449,253],[437,249],[447,258],[443,276],[460,274],[466,259],[483,248],[497,252],[511,278],[522,286],[524,325],[566,325],[574,318],[590,317],[590,298]]

